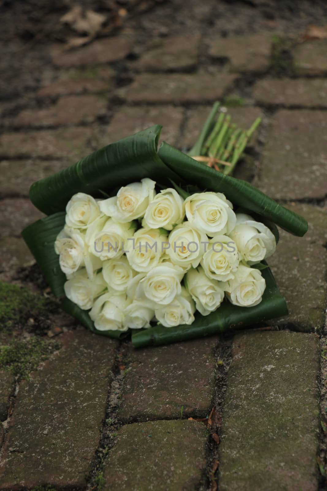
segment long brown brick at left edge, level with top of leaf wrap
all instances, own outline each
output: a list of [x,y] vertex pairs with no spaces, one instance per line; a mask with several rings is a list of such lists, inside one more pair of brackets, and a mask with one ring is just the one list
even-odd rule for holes
[[2,133],[0,155],[4,158],[65,158],[75,163],[99,148],[101,130],[97,125],[30,132]]

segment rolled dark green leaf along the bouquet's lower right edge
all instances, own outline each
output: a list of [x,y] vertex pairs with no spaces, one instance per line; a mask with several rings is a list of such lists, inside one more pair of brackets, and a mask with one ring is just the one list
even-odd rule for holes
[[191,326],[156,326],[133,332],[133,347],[160,346],[187,339],[212,336],[287,315],[285,299],[279,292],[272,272],[268,268],[264,269],[261,274],[266,280],[266,290],[258,305],[238,307],[232,305],[228,300],[224,300],[220,307],[208,316],[203,317],[197,312],[195,321]]

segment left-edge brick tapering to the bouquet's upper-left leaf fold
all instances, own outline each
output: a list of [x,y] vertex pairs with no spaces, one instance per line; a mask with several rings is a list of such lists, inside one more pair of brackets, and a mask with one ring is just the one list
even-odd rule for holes
[[[72,164],[72,162],[71,162]],[[65,161],[2,160],[0,161],[0,196],[28,196],[30,185],[67,167]]]

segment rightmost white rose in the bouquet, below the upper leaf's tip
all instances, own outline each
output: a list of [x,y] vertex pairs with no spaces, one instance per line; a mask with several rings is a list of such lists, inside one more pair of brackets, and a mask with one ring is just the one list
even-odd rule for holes
[[272,231],[244,213],[236,214],[236,227],[230,233],[230,237],[242,258],[249,264],[267,259],[276,250],[276,239]]

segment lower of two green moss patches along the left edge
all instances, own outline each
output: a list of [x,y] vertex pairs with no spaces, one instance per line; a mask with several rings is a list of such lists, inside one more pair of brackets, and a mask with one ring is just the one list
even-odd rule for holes
[[44,341],[40,337],[26,341],[14,339],[0,347],[0,369],[12,373],[18,380],[28,379],[30,372],[36,370],[42,361],[59,348],[59,343]]

